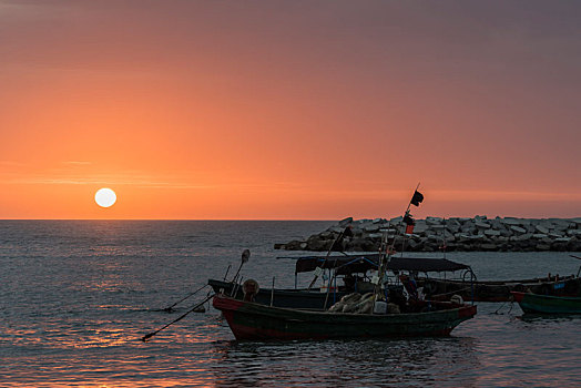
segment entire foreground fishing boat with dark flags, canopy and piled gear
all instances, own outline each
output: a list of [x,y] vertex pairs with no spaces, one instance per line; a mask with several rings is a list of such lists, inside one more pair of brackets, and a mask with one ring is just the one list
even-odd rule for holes
[[[424,200],[418,187],[402,217],[408,226],[414,224],[409,213],[410,205],[418,206]],[[447,270],[445,268],[450,266],[453,268],[467,266],[447,259],[394,257],[394,242],[389,243],[388,234],[384,233],[381,247],[376,257],[356,255],[329,259],[329,249],[324,258],[299,258],[295,275],[299,272],[315,270],[315,278],[310,286],[325,269],[333,269],[333,277],[327,277],[329,287],[336,286],[338,275],[353,277],[354,273],[365,274],[374,269],[369,282],[371,292],[361,295],[355,289],[350,295],[333,304],[329,309],[326,308],[329,288],[322,312],[275,307],[273,306],[274,289],[271,293],[269,306],[254,303],[258,294],[258,285],[254,280],[244,283],[243,300],[217,294],[214,296],[213,306],[223,313],[238,340],[444,336],[476,315],[476,306],[465,305],[459,296],[452,296],[453,302],[426,300],[416,288],[414,279],[414,275],[419,270]],[[408,282],[404,284],[406,294],[390,290],[388,270],[410,272]],[[354,288],[357,288],[356,278],[346,282],[346,286],[350,286],[351,280]]]

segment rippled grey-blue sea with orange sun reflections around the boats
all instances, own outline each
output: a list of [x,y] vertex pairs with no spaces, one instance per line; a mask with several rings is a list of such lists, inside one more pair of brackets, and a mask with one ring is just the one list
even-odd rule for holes
[[[294,262],[276,256],[300,253],[273,244],[330,224],[1,221],[0,386],[581,386],[581,317],[528,318],[510,304],[479,304],[446,338],[237,343],[211,308],[140,340],[194,300],[164,307],[228,264],[232,276],[245,248],[245,278],[294,286]],[[479,279],[565,275],[581,264],[567,253],[448,258]]]

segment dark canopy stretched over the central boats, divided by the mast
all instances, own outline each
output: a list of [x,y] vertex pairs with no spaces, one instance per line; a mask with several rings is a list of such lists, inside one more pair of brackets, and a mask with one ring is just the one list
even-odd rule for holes
[[[313,272],[317,267],[336,268],[337,275],[363,274],[369,269],[377,269],[379,254],[345,255],[345,256],[304,256],[296,258],[295,274]],[[456,263],[447,258],[428,257],[391,257],[387,268],[390,270],[416,272],[455,272],[469,269],[466,264]]]

